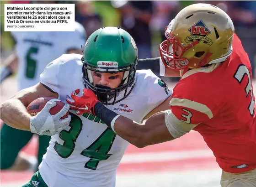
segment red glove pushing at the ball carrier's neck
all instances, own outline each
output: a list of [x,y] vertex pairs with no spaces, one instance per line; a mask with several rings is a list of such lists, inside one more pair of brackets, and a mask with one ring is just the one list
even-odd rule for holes
[[94,106],[100,102],[91,89],[84,88],[82,96],[78,96],[80,89],[72,92],[71,97],[67,97],[66,101],[70,105],[70,109],[76,110],[78,115],[84,113],[94,114]]

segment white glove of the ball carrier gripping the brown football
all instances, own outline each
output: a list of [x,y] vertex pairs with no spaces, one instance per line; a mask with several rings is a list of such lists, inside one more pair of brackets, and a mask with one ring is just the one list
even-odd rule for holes
[[50,109],[56,105],[54,101],[48,101],[44,108],[35,116],[30,118],[30,130],[38,135],[55,135],[69,126],[71,116],[62,118],[69,110],[69,104],[65,104],[57,114],[51,115]]

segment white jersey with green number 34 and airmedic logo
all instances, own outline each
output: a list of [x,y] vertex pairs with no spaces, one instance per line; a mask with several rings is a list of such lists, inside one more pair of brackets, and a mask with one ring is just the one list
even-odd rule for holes
[[[66,97],[83,83],[81,55],[64,54],[49,63],[40,75],[40,82]],[[151,70],[136,71],[136,83],[123,101],[107,105],[108,109],[136,122],[171,96]],[[122,94],[120,94],[122,95]],[[119,98],[119,96],[117,99]],[[51,137],[39,172],[49,187],[115,187],[116,170],[128,142],[110,130],[104,121],[92,114],[72,116],[70,125]]]

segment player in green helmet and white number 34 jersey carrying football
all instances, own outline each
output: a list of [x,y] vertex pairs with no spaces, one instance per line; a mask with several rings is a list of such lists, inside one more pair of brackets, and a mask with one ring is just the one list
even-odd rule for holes
[[[32,187],[35,181],[37,187],[115,186],[117,166],[128,146],[126,140],[90,113],[80,115],[70,110],[69,126],[58,133],[55,129],[59,125],[64,128],[63,121],[53,119],[54,122],[49,123],[46,120],[51,118],[48,111],[54,102],[48,102],[35,117],[27,114],[25,107],[43,96],[64,102],[68,97],[72,104],[84,89],[89,88],[87,90],[97,94],[108,109],[142,122],[167,109],[172,92],[151,70],[136,71],[137,56],[136,44],[128,32],[117,27],[103,27],[89,37],[83,56],[64,54],[50,62],[40,75],[40,83],[22,90],[1,105],[1,119],[8,125],[39,135],[48,130],[53,135],[39,171],[23,187]],[[83,104],[80,110],[82,108]],[[66,109],[61,115],[64,112]],[[15,115],[10,118],[10,114]]]

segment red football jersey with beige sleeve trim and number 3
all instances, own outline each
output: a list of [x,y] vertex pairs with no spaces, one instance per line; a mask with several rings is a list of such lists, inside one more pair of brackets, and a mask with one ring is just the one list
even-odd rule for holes
[[236,35],[232,47],[225,62],[184,73],[170,104],[178,119],[199,124],[194,130],[219,166],[238,173],[256,168],[256,105],[251,64]]

